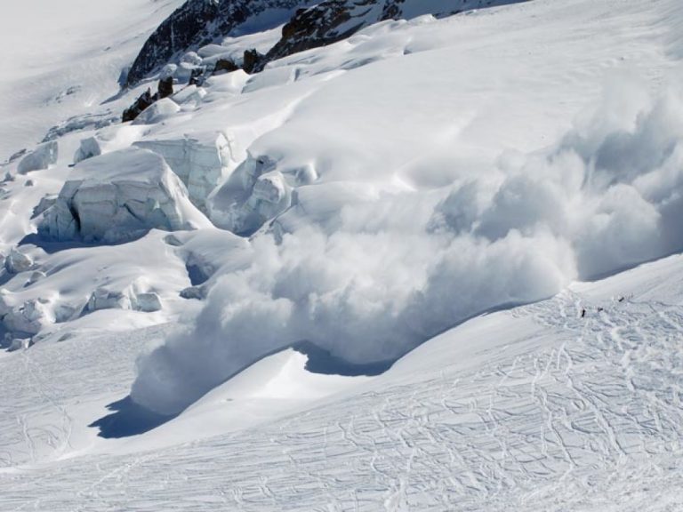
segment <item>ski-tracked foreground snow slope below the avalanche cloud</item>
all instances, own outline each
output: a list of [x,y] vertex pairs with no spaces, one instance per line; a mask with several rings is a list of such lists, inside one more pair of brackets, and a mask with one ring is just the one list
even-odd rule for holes
[[[206,396],[210,408],[197,404],[137,448],[92,430],[86,441],[82,426],[125,393],[130,355],[164,330],[4,356],[3,506],[677,510],[681,268],[675,256],[482,316],[381,377],[347,389],[330,382],[338,393],[308,405],[333,378],[297,376],[285,368],[301,363],[283,354],[263,362],[272,386],[257,365],[248,384]],[[293,374],[297,389],[278,372]],[[214,436],[201,439],[207,429]],[[163,447],[169,438],[187,444]],[[40,463],[20,464],[32,458]]]

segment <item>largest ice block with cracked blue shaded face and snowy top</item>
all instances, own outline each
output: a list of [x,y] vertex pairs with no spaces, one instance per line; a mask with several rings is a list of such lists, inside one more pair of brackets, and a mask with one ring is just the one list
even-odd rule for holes
[[152,228],[206,227],[187,191],[160,156],[130,148],[76,167],[38,233],[57,241],[119,244]]

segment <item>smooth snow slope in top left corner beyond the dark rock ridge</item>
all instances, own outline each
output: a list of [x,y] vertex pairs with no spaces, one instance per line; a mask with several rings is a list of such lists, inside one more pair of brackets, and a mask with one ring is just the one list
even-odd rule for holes
[[116,94],[121,70],[181,3],[63,0],[5,5],[0,18],[0,44],[6,49],[0,77],[0,161],[31,148],[53,125],[92,112]]

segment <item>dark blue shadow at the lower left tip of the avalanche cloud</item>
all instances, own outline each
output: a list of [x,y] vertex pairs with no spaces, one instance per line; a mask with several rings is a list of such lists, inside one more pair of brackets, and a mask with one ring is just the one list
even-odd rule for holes
[[92,422],[88,427],[99,428],[98,436],[105,439],[139,436],[173,420],[177,415],[166,416],[151,412],[135,404],[130,396],[107,405],[111,414]]

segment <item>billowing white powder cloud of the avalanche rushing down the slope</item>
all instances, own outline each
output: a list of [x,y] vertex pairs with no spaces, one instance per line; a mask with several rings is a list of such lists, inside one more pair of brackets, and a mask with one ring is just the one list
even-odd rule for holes
[[352,363],[393,360],[470,316],[681,251],[682,215],[683,98],[620,84],[555,147],[502,155],[486,179],[255,236],[251,266],[141,359],[132,396],[179,412],[300,340]]

